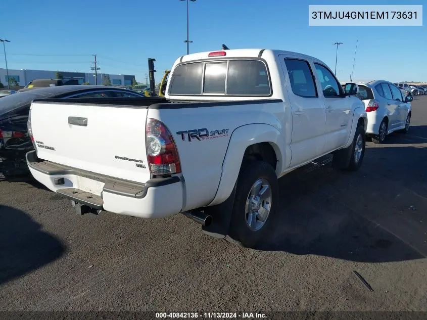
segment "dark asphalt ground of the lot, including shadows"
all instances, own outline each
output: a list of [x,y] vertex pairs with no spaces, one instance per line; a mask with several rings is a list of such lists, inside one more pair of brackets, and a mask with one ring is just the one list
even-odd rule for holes
[[31,180],[2,181],[0,310],[427,311],[427,96],[412,107],[409,133],[367,143],[360,171],[281,178],[263,250],[182,215],[77,216]]

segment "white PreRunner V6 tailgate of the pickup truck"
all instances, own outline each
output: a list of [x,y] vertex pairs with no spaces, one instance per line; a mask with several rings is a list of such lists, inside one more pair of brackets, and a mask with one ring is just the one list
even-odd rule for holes
[[145,107],[33,102],[37,156],[94,173],[144,183],[150,179]]

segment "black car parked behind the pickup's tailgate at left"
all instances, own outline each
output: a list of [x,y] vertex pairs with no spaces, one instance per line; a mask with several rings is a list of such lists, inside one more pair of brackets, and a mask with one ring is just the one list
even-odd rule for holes
[[[78,97],[144,97],[129,90],[104,85],[66,85],[36,88],[0,99],[0,172],[14,174],[28,172],[25,153],[34,150],[28,136],[27,120],[34,99]],[[49,116],[48,116],[49,118]],[[49,126],[52,132],[54,127]]]

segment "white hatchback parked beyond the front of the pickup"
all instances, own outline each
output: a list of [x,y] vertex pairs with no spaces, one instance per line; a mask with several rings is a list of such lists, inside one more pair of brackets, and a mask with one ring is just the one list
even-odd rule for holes
[[365,104],[368,116],[366,135],[372,142],[381,144],[386,135],[400,130],[408,132],[411,122],[412,96],[405,97],[395,84],[385,80],[356,82],[359,97]]

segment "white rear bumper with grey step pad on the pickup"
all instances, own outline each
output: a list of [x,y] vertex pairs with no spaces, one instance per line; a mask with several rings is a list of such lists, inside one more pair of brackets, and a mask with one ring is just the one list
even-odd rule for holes
[[26,160],[42,185],[94,209],[141,218],[163,218],[182,209],[183,188],[177,176],[139,184],[41,160],[35,150]]

